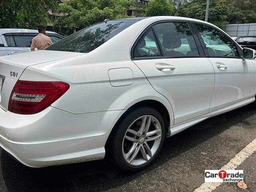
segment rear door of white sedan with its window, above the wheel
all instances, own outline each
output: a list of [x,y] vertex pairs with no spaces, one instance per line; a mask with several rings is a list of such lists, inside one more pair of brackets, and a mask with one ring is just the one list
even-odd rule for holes
[[174,123],[206,114],[214,88],[214,70],[186,22],[162,22],[137,41],[133,62],[153,88],[165,96]]

